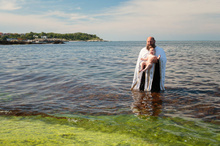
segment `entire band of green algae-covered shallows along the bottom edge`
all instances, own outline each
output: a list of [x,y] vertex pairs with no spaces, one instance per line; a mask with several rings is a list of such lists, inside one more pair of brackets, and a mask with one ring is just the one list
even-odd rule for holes
[[220,140],[218,125],[133,115],[0,116],[0,129],[0,145],[218,145]]

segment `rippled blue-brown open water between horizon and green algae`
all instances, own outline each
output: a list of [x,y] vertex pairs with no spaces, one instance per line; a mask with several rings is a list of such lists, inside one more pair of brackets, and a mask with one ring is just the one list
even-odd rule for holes
[[220,42],[158,41],[162,93],[131,92],[145,42],[0,46],[0,110],[22,113],[190,117],[219,123]]

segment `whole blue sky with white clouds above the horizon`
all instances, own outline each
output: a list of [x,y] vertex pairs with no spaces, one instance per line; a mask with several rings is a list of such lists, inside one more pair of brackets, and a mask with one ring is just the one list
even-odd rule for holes
[[0,0],[0,32],[220,40],[220,0]]

